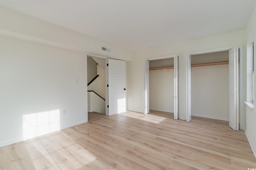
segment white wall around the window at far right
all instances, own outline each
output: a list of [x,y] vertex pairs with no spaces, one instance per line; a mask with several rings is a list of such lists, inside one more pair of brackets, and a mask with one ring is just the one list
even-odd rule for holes
[[[254,42],[254,70],[256,70],[256,7],[252,13],[252,16],[248,22],[246,27],[246,43]],[[256,74],[254,74],[254,84],[256,84]],[[255,89],[255,87],[254,87]],[[256,98],[256,90],[254,90],[254,99]],[[255,108],[255,102],[254,102]],[[254,155],[256,157],[256,110],[250,109],[247,105],[245,105],[245,132],[249,139],[250,145],[254,151]]]

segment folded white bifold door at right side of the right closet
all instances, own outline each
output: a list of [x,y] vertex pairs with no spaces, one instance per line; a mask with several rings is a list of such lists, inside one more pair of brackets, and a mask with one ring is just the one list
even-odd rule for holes
[[229,126],[238,131],[238,48],[229,51]]

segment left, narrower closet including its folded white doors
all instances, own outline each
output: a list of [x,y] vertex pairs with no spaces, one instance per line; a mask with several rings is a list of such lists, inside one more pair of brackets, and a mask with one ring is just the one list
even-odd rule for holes
[[150,110],[178,119],[178,56],[145,60],[144,114]]

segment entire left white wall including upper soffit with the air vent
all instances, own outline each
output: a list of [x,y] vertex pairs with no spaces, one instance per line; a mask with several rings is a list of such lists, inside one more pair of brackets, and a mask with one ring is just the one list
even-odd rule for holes
[[[87,54],[134,57],[133,51],[3,6],[0,20],[0,146],[87,121]],[[47,125],[55,128],[47,131]]]

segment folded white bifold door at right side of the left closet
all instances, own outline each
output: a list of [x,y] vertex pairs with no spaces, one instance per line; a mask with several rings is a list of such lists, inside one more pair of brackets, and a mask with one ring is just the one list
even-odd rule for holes
[[179,118],[179,98],[178,98],[178,74],[179,71],[179,58],[178,56],[174,57],[174,119]]

